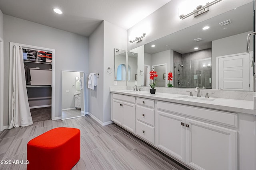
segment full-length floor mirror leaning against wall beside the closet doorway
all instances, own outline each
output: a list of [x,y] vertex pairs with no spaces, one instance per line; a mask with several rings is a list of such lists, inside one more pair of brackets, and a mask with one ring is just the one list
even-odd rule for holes
[[61,119],[84,116],[84,72],[62,70]]

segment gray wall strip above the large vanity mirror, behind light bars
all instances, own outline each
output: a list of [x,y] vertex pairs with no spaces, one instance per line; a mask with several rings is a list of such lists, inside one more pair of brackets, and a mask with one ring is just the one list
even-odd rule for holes
[[[197,18],[190,16],[184,20],[180,20],[178,11],[179,8],[182,8],[181,4],[184,2],[191,2],[194,4],[194,1],[171,0],[166,5],[162,6],[161,8],[138,22],[136,25],[128,29],[127,41],[133,40],[135,39],[135,37],[142,36],[142,33],[146,33],[146,36],[142,39],[140,43],[127,43],[127,50],[129,51],[130,49],[134,49],[138,46],[147,44],[151,41],[154,41],[191,25],[195,25],[196,23],[208,20],[209,18],[212,18],[229,10],[233,10],[237,6],[252,2],[252,0],[222,0],[221,2],[211,6],[210,11],[208,11],[207,14],[203,14]],[[190,12],[191,11],[188,11],[187,14]]]

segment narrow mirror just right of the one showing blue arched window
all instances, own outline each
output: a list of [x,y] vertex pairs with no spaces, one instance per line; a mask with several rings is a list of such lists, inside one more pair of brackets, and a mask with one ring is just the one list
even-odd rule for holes
[[128,51],[128,81],[138,80],[138,54]]

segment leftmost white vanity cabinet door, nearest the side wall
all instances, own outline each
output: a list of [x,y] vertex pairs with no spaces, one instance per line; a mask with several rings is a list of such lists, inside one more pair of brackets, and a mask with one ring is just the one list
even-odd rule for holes
[[113,117],[112,117],[112,121],[122,125],[122,102],[120,102],[119,100],[113,100]]

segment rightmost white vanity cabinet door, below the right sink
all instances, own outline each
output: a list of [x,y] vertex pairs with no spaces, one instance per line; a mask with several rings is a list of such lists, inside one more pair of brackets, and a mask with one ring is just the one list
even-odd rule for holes
[[237,170],[237,131],[186,119],[186,163],[197,170]]

